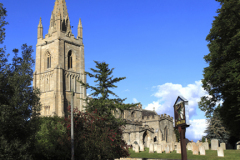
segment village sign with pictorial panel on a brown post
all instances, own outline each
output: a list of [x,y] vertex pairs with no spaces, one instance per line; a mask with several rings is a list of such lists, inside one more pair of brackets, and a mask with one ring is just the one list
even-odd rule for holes
[[173,105],[175,128],[178,129],[180,133],[182,160],[187,160],[186,139],[185,139],[186,128],[189,127],[189,125],[186,123],[186,115],[185,115],[185,110],[186,110],[185,105],[187,104],[188,104],[188,101],[184,97],[178,96],[176,102]]

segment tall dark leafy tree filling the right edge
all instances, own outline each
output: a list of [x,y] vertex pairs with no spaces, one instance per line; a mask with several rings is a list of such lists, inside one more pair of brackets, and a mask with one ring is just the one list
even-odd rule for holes
[[213,116],[216,104],[223,124],[240,138],[240,1],[217,0],[221,8],[206,40],[210,53],[204,56],[203,88],[210,96],[201,97],[199,108],[207,118]]

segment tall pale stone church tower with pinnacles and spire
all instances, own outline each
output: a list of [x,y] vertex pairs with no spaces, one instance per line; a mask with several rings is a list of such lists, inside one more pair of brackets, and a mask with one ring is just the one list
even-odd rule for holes
[[40,18],[37,38],[33,86],[41,91],[41,115],[66,116],[71,91],[74,92],[74,108],[83,111],[84,101],[79,98],[86,97],[86,88],[77,82],[86,83],[82,23],[79,20],[75,38],[65,0],[55,1],[45,37]]

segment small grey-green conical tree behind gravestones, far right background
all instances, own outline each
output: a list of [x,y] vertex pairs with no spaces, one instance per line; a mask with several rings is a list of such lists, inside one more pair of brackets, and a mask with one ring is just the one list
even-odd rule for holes
[[217,110],[214,111],[213,117],[208,119],[208,127],[204,133],[207,133],[205,137],[208,139],[218,139],[220,143],[228,142],[230,132],[224,127]]

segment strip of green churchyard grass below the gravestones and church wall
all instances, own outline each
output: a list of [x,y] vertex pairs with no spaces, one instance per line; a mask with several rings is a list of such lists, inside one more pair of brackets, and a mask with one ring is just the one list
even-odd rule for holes
[[[176,151],[166,154],[163,153],[149,153],[149,148],[145,148],[145,151],[135,153],[132,149],[129,149],[131,158],[159,158],[159,159],[181,159],[181,154],[177,154]],[[217,151],[206,150],[206,155],[192,155],[192,151],[187,150],[188,160],[237,160],[240,159],[240,150],[224,150],[224,157],[218,157]]]

